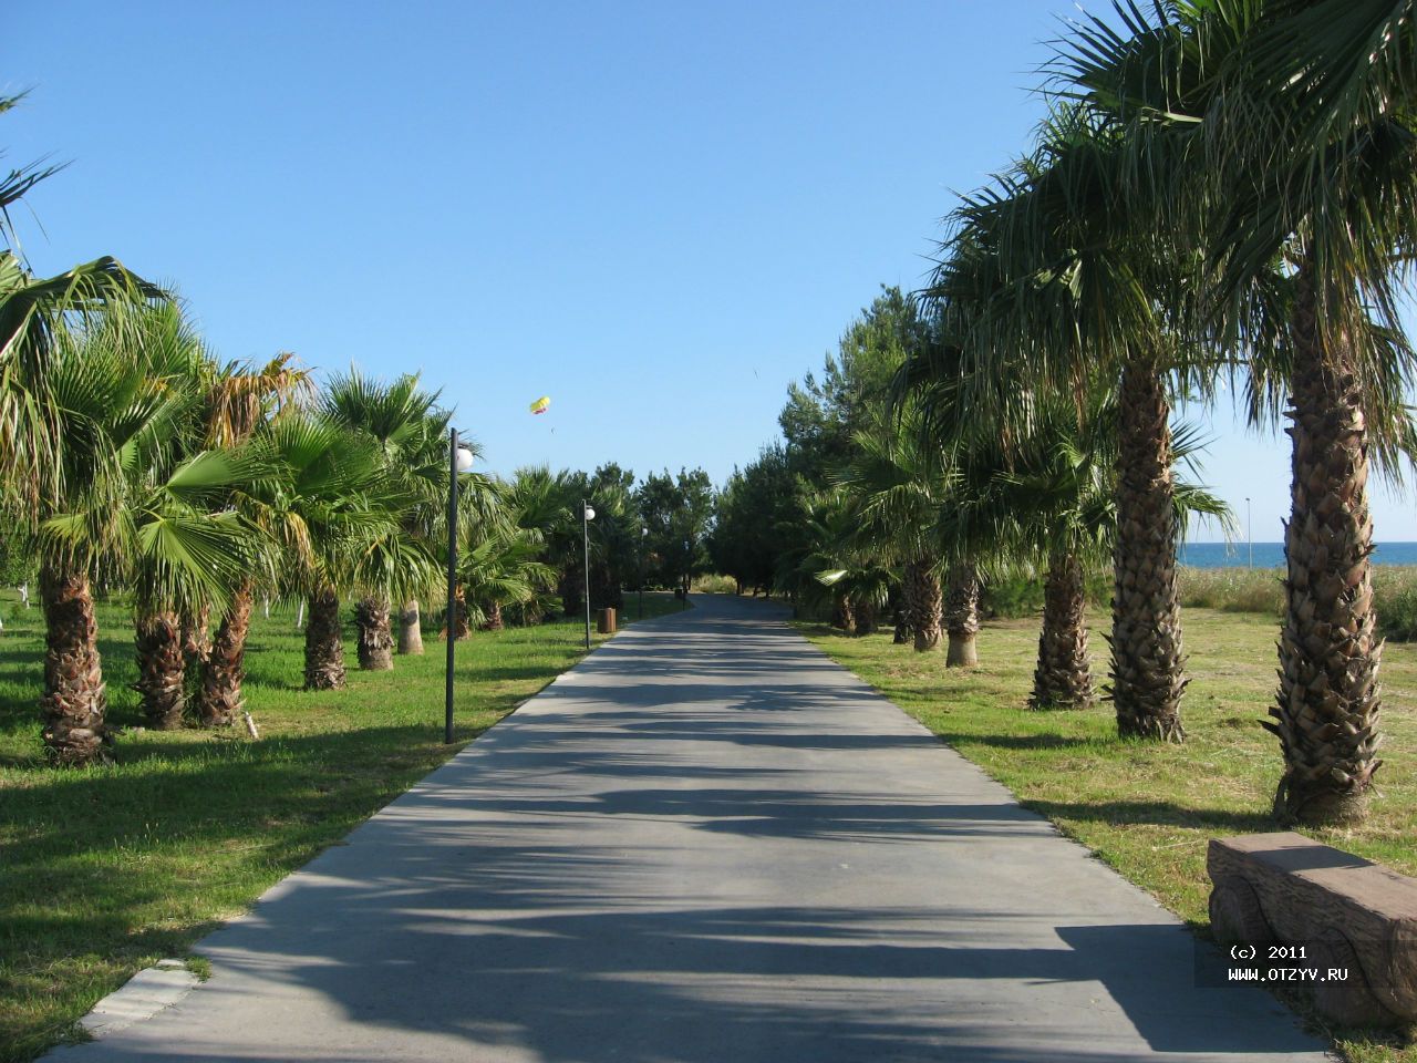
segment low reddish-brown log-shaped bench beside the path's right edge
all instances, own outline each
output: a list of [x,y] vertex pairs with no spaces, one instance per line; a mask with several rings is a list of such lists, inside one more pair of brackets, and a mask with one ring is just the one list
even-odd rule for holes
[[1292,832],[1213,839],[1206,867],[1221,948],[1302,947],[1302,965],[1348,971],[1312,982],[1329,1018],[1417,1020],[1417,879]]

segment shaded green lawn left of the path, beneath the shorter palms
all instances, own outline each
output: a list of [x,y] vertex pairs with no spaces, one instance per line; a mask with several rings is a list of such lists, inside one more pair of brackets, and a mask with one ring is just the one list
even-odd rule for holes
[[[116,763],[45,767],[38,608],[0,600],[0,1060],[37,1056],[135,971],[188,947],[510,713],[584,653],[577,621],[479,632],[458,645],[458,743],[442,744],[444,643],[306,693],[293,612],[261,615],[247,707],[261,740],[137,731],[130,614],[99,607]],[[639,600],[626,595],[622,625]],[[680,605],[646,594],[649,617]],[[592,634],[592,639],[604,636]]]

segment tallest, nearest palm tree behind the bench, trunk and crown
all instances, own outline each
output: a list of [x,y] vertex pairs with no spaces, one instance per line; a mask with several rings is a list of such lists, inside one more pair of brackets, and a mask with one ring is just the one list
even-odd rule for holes
[[[1285,761],[1275,811],[1340,823],[1366,815],[1382,764],[1367,476],[1373,429],[1413,381],[1406,342],[1387,339],[1401,336],[1397,303],[1417,251],[1417,41],[1411,3],[1306,7],[1275,4],[1230,57],[1229,89],[1251,102],[1267,152],[1238,137],[1233,105],[1217,102],[1206,126],[1230,163],[1216,174],[1230,206],[1221,293],[1248,289],[1275,255],[1294,271],[1288,577],[1265,724]],[[1304,35],[1315,27],[1322,47]]]

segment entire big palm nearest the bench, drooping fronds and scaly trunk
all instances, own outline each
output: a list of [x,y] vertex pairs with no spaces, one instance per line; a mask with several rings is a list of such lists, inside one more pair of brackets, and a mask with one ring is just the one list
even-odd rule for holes
[[[1134,122],[1148,152],[1189,162],[1176,173],[1212,203],[1197,235],[1219,271],[1213,303],[1238,308],[1240,339],[1277,337],[1288,360],[1287,618],[1267,724],[1285,758],[1275,812],[1356,821],[1382,763],[1369,456],[1387,459],[1411,435],[1400,404],[1413,360],[1393,340],[1417,238],[1413,4],[1132,14],[1131,37],[1087,26],[1068,74]],[[1204,75],[1162,82],[1159,69]],[[1277,262],[1285,298],[1258,298]]]

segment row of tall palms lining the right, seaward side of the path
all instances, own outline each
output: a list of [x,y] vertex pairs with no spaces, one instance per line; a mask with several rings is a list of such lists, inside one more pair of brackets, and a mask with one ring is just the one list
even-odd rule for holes
[[[1070,24],[1036,143],[949,215],[918,308],[930,339],[837,476],[866,520],[833,549],[891,547],[922,648],[941,597],[928,574],[945,575],[964,662],[976,566],[1002,553],[1046,573],[1039,706],[1091,697],[1078,573],[1110,551],[1118,731],[1182,741],[1176,541],[1187,510],[1217,507],[1176,476],[1189,444],[1172,407],[1230,384],[1257,427],[1287,422],[1264,726],[1291,822],[1360,819],[1382,763],[1367,478],[1414,439],[1397,315],[1417,240],[1414,6],[1118,0]],[[813,567],[869,583],[860,554],[811,554],[829,541],[798,537],[795,585]]]

